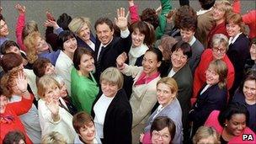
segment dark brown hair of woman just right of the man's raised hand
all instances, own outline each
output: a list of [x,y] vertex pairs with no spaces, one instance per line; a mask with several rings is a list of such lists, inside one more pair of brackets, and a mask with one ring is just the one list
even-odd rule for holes
[[155,33],[154,30],[150,29],[149,25],[146,22],[139,21],[131,25],[131,29],[133,32],[135,29],[139,29],[141,34],[145,35],[145,39],[143,43],[147,46],[151,46],[155,41]]

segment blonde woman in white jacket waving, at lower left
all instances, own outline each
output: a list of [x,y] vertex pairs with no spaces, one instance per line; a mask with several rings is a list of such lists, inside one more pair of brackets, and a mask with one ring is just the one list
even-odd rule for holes
[[72,143],[76,136],[76,131],[72,127],[72,115],[67,112],[67,105],[60,105],[61,91],[60,85],[53,77],[40,77],[38,82],[38,113],[42,136],[57,131],[67,139],[67,143]]

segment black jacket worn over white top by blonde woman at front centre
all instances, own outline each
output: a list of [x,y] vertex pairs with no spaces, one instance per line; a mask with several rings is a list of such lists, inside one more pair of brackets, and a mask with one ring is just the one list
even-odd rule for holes
[[[93,102],[97,103],[102,92]],[[95,113],[92,108],[92,116],[95,117]],[[125,91],[120,89],[115,98],[109,104],[105,119],[104,119],[104,140],[102,143],[106,144],[119,144],[127,143],[131,144],[131,125],[132,125],[132,112],[131,105],[126,97]]]

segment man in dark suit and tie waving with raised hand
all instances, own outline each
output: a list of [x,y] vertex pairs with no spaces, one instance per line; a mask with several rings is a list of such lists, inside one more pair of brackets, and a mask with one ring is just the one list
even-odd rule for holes
[[[114,35],[114,25],[108,18],[99,18],[94,24],[96,29],[96,45],[94,59],[96,61],[95,78],[99,82],[100,73],[108,67],[115,67],[115,60],[122,52],[128,53],[130,47],[125,44],[130,34],[127,27],[127,17],[125,17],[125,9],[118,10],[115,24],[120,29],[120,37]],[[127,44],[127,42],[126,42]]]

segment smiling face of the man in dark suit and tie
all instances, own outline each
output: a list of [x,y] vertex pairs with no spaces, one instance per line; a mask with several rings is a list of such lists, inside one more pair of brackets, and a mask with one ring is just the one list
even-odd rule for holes
[[99,41],[103,45],[109,44],[113,39],[114,29],[110,29],[108,24],[98,24],[96,26],[96,34],[98,35]]

